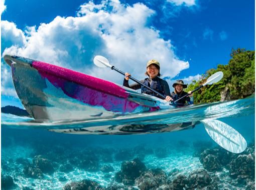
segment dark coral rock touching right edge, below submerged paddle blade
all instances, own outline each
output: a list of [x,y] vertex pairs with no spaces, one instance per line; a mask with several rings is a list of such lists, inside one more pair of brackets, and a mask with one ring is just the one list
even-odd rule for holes
[[253,178],[254,172],[255,159],[254,157],[252,157],[251,154],[238,155],[234,160],[230,162],[229,175],[232,177],[237,177],[238,175],[245,175],[246,178]]

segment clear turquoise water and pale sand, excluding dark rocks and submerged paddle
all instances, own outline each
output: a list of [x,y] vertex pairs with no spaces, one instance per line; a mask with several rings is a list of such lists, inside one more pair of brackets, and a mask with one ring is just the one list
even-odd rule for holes
[[[72,181],[81,181],[82,179],[91,179],[106,188],[110,184],[123,185],[123,182],[116,181],[115,174],[120,171],[124,161],[139,157],[147,169],[161,168],[166,175],[169,174],[166,176],[165,183],[161,184],[162,186],[159,185],[160,189],[163,188],[163,185],[173,185],[173,180],[177,175],[170,173],[175,168],[179,169],[179,174],[183,174],[189,179],[192,178],[192,171],[205,168],[212,179],[208,186],[215,185],[220,189],[244,189],[251,184],[251,181],[254,181],[254,174],[251,176],[251,173],[246,173],[249,172],[246,171],[246,176],[241,179],[239,173],[236,176],[231,175],[231,170],[226,165],[222,165],[221,169],[218,170],[210,170],[204,162],[200,162],[200,153],[205,148],[213,149],[216,147],[220,151],[223,150],[210,138],[202,123],[197,123],[188,130],[173,132],[162,132],[166,130],[160,130],[158,126],[163,129],[166,124],[216,118],[241,133],[249,148],[252,147],[250,143],[254,143],[254,108],[253,96],[241,100],[188,106],[175,110],[161,110],[93,120],[35,122],[27,117],[2,113],[2,174],[12,176],[16,184],[14,188],[17,189],[23,187],[61,189]],[[151,129],[146,130],[146,132],[152,134],[78,135],[48,131],[48,129],[94,127],[93,131],[88,133],[95,133],[95,130],[99,128],[119,125],[120,123],[126,126],[140,124],[140,127],[144,129],[145,126],[151,126]],[[107,129],[109,132],[109,128]],[[131,132],[131,127],[129,131]],[[140,130],[140,133],[143,132],[145,130]],[[247,149],[240,154],[248,155]],[[48,164],[52,165],[53,171],[44,171],[41,177],[34,176],[33,178],[26,174],[24,168],[28,165],[32,168],[43,167],[35,166],[35,156],[38,155],[42,155],[45,160],[49,161]],[[236,163],[235,158],[237,156],[230,157],[231,165]],[[254,159],[253,153],[252,157]],[[220,159],[220,157],[218,158]],[[91,161],[89,166],[85,164],[85,161],[88,160]],[[71,164],[72,169],[61,170],[61,166],[67,163]],[[255,163],[252,161],[251,164]],[[93,169],[90,167],[92,165],[94,166]],[[103,172],[101,167],[104,165],[112,166],[113,170]],[[41,170],[43,169],[41,168]],[[239,170],[239,172],[243,171]],[[215,176],[218,176],[219,180],[213,183]],[[125,185],[125,187],[128,186]],[[135,181],[130,186],[138,188],[140,185]]]

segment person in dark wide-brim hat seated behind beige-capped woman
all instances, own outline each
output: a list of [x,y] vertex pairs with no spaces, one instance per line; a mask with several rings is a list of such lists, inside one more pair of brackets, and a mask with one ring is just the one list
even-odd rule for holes
[[[184,95],[191,93],[191,91],[189,92],[183,91],[183,88],[187,87],[187,84],[184,84],[183,80],[176,80],[176,82],[173,83],[173,87],[174,87],[174,91],[171,93],[171,97],[173,101],[183,97]],[[193,104],[193,98],[191,98],[192,95],[193,94],[190,94],[189,96],[180,99],[179,101],[176,102],[176,104],[185,105],[186,102],[187,104]]]

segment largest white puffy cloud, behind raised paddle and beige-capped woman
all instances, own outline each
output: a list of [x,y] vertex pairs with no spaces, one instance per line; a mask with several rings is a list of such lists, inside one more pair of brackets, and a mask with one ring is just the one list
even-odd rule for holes
[[5,48],[3,54],[46,61],[117,83],[122,83],[122,76],[109,68],[93,65],[95,55],[107,57],[110,64],[138,79],[146,77],[146,62],[157,59],[162,75],[174,77],[188,68],[189,63],[176,57],[171,40],[164,40],[159,30],[148,26],[154,14],[154,10],[142,3],[124,5],[114,0],[94,4],[90,1],[80,6],[76,17],[57,16],[38,28],[28,27],[17,40],[19,43],[7,40],[14,45]]

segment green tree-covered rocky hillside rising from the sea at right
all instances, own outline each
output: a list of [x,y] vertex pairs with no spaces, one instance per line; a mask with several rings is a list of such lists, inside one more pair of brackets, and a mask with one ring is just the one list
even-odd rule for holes
[[244,48],[232,49],[228,64],[218,64],[202,74],[199,81],[192,81],[187,91],[203,84],[217,71],[223,72],[223,78],[212,85],[206,85],[194,92],[194,103],[214,102],[226,99],[239,99],[255,92],[255,51]]

